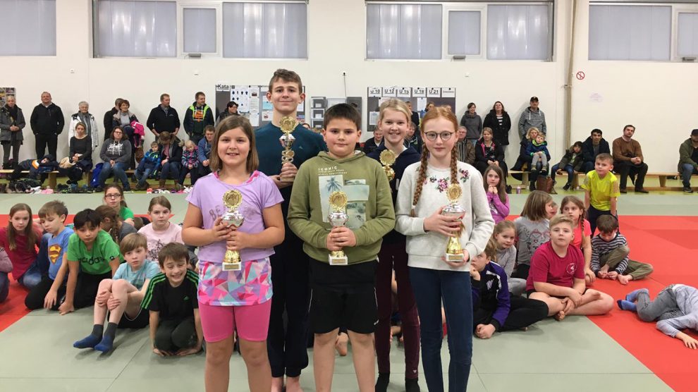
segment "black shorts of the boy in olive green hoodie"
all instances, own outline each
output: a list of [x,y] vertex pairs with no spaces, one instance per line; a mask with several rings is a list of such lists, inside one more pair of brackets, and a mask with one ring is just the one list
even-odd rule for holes
[[355,333],[373,333],[378,324],[376,290],[347,292],[315,286],[310,291],[310,325],[314,333],[345,326]]

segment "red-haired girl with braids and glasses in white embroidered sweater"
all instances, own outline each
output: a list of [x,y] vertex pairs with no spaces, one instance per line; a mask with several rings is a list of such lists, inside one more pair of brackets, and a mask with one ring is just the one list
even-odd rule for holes
[[[405,169],[396,205],[396,230],[407,235],[410,281],[420,314],[422,363],[429,391],[443,391],[441,303],[446,312],[451,391],[465,391],[472,357],[470,257],[479,255],[494,228],[482,175],[458,161],[451,111],[436,107],[422,120],[422,161]],[[449,185],[460,185],[464,216],[441,214]],[[448,238],[460,235],[463,259],[446,261]]]

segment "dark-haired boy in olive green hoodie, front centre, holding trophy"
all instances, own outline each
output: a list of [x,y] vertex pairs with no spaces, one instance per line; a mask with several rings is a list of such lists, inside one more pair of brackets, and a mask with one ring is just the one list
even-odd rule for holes
[[[331,390],[340,326],[349,331],[360,391],[374,389],[376,256],[383,236],[395,226],[395,212],[381,164],[354,151],[360,122],[360,114],[348,104],[327,109],[322,135],[329,152],[320,152],[300,166],[288,207],[288,225],[303,240],[303,250],[310,257],[310,322],[318,391]],[[332,228],[329,223],[329,196],[336,191],[347,195],[347,227]],[[337,250],[345,252],[347,265],[329,264],[329,252]]]

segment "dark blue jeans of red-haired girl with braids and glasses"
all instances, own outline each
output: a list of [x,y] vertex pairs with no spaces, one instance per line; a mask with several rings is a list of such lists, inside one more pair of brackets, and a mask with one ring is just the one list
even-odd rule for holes
[[443,391],[441,369],[441,303],[448,328],[448,391],[467,388],[472,359],[472,293],[470,274],[410,267],[410,282],[420,314],[422,364],[430,392]]

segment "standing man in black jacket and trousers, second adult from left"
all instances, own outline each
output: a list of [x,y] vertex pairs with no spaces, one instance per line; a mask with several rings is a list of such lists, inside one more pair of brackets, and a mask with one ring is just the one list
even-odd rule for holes
[[46,147],[49,147],[49,154],[56,157],[56,147],[58,147],[58,135],[63,132],[66,120],[63,118],[63,111],[59,106],[51,102],[49,92],[41,93],[41,103],[35,106],[32,117],[29,121],[32,133],[36,137],[37,157],[46,154]]

